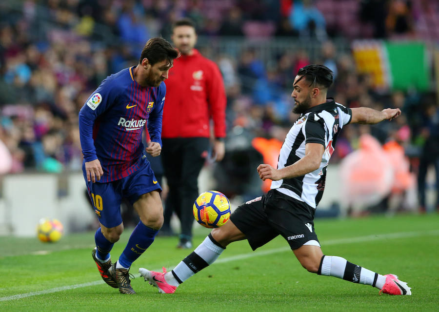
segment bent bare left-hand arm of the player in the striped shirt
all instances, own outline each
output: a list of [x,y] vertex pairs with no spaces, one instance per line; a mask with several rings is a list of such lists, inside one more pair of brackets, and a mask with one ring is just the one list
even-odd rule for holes
[[307,143],[305,145],[305,156],[292,165],[285,168],[275,169],[267,164],[258,166],[259,177],[264,181],[271,179],[274,181],[303,176],[319,169],[324,147],[320,143]]

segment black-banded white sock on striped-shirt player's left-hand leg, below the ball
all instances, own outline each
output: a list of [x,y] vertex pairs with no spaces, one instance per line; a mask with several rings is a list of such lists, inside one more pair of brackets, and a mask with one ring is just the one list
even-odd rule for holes
[[170,285],[174,285],[175,282],[179,284],[184,282],[195,273],[214,263],[223,251],[224,248],[220,247],[220,244],[209,234],[192,254],[184,258],[172,272],[165,274],[166,282]]

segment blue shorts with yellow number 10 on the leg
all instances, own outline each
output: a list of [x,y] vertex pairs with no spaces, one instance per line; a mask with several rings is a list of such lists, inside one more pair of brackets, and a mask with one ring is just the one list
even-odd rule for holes
[[140,195],[155,190],[161,191],[149,162],[146,162],[135,173],[116,181],[93,183],[88,182],[85,175],[84,178],[99,222],[107,228],[114,228],[122,223],[120,203],[123,197],[127,198],[132,205]]

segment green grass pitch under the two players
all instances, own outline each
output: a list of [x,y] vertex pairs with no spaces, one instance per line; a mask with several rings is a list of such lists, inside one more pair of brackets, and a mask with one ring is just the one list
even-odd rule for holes
[[[176,237],[157,237],[132,266],[136,278],[131,285],[137,295],[121,295],[100,279],[91,257],[94,234],[89,232],[67,235],[54,244],[0,237],[0,310],[438,311],[439,215],[317,219],[315,225],[324,254],[342,256],[382,274],[398,274],[412,287],[412,296],[379,296],[371,286],[308,273],[281,237],[256,252],[247,241],[229,245],[215,264],[171,295],[159,294],[143,282],[138,269],[172,268],[191,251],[176,249]],[[131,230],[126,229],[115,244],[113,261]],[[194,246],[208,233],[197,226]]]

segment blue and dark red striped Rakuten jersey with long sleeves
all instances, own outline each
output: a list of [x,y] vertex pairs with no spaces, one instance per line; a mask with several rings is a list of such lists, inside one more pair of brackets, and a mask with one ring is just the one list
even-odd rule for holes
[[166,86],[164,82],[158,87],[140,86],[133,68],[105,78],[79,113],[84,163],[100,160],[103,176],[99,182],[129,176],[147,161],[142,144],[145,125],[151,141],[161,145]]

